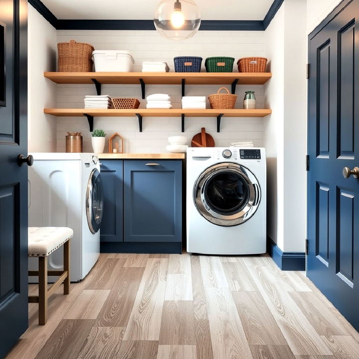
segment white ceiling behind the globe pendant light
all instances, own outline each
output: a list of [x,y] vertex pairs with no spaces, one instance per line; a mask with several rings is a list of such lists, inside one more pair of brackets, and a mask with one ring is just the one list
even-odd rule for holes
[[[175,1],[175,0],[174,0]],[[194,0],[202,20],[263,20],[273,0]],[[153,19],[160,0],[42,0],[58,19]]]

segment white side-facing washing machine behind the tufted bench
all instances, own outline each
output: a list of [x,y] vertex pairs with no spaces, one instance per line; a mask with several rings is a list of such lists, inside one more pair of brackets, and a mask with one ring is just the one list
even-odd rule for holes
[[[100,164],[90,153],[31,153],[28,171],[29,227],[70,227],[70,280],[83,279],[100,255],[103,188]],[[48,270],[63,266],[63,247],[51,253]],[[29,270],[37,269],[29,258]],[[54,277],[49,277],[53,282]],[[29,277],[35,283],[36,277]]]

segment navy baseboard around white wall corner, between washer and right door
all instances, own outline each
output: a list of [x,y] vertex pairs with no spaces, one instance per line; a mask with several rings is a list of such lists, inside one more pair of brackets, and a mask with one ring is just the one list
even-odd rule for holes
[[267,252],[281,270],[305,270],[304,252],[283,252],[271,238],[267,237]]

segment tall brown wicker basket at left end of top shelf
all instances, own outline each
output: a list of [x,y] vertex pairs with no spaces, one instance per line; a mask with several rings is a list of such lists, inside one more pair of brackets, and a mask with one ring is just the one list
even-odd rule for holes
[[59,42],[58,71],[60,72],[92,72],[92,51],[94,47],[88,43]]

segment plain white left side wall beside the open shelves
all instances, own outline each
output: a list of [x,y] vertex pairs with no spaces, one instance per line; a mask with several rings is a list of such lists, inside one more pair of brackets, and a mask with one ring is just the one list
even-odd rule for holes
[[45,115],[55,107],[56,84],[43,76],[56,64],[56,30],[28,6],[28,151],[56,152],[56,119]]

